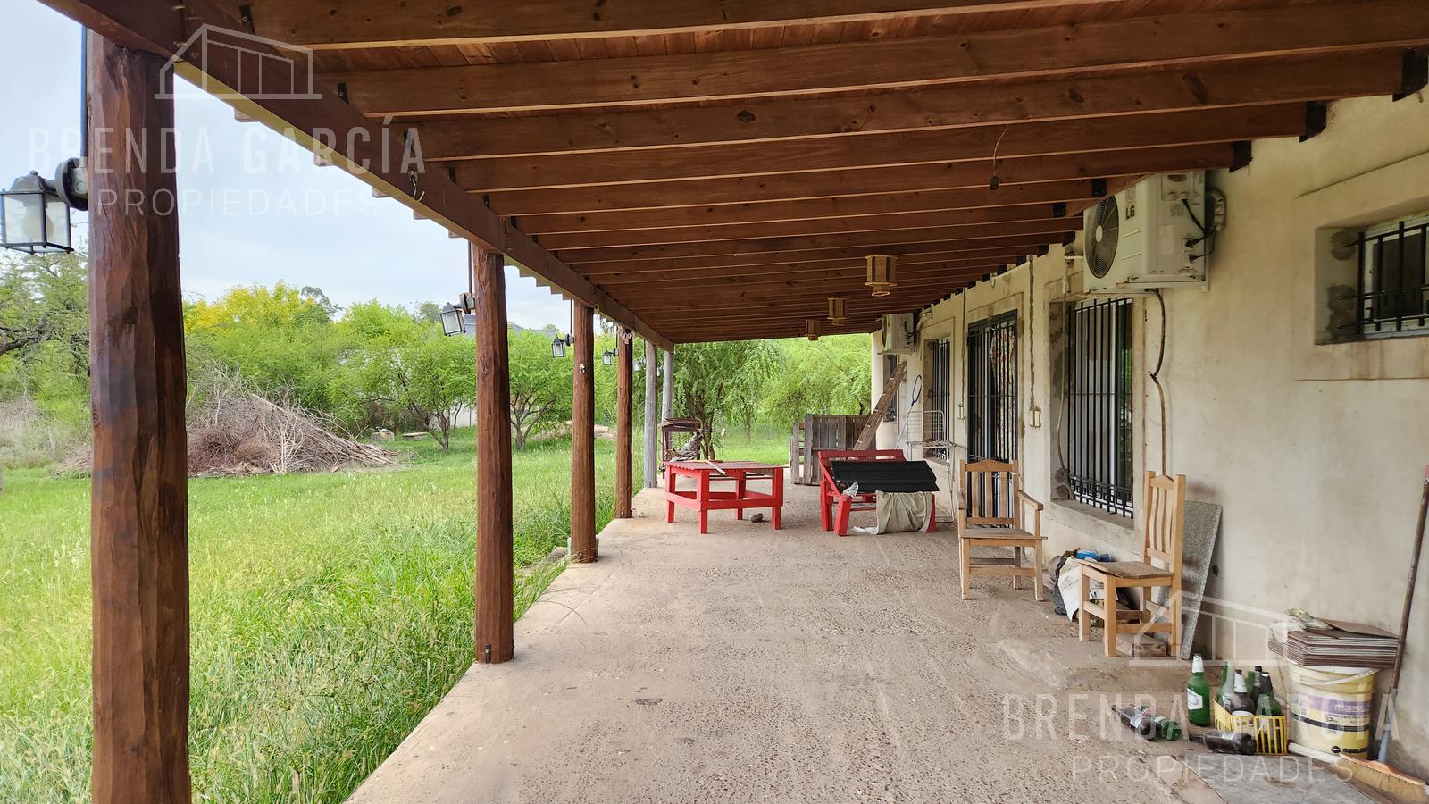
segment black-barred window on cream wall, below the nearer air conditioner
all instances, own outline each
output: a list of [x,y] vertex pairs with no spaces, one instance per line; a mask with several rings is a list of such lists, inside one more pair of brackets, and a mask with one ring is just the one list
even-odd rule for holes
[[1132,515],[1132,300],[1067,309],[1067,488],[1072,499]]

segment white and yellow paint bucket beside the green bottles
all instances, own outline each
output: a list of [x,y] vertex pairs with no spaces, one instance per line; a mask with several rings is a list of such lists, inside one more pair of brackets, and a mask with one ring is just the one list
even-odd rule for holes
[[1376,672],[1290,662],[1290,740],[1328,754],[1368,754]]

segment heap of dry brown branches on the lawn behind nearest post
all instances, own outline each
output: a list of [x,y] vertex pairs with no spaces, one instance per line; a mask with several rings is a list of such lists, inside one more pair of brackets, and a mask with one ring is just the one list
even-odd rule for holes
[[[189,475],[286,475],[400,466],[393,452],[333,432],[324,419],[284,398],[273,402],[233,376],[214,373],[189,396]],[[87,472],[91,451],[57,471]]]

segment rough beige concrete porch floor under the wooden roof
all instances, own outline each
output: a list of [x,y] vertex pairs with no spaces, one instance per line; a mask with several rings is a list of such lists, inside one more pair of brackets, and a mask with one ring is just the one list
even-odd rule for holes
[[787,494],[783,531],[717,512],[700,536],[642,492],[516,624],[516,660],[473,667],[352,800],[1177,800],[1097,694],[1005,648],[1127,660],[1005,579],[959,599],[950,531],[840,539]]

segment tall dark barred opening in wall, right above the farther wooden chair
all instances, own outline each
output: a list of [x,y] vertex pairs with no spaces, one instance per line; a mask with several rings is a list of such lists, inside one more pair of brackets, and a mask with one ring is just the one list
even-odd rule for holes
[[967,328],[967,462],[1017,459],[1017,313]]

